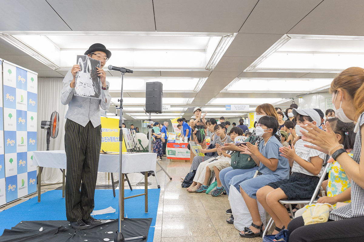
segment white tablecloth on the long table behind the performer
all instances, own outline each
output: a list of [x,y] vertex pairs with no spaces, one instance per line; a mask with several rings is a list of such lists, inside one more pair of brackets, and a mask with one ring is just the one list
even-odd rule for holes
[[[33,165],[67,169],[65,151],[33,151]],[[157,153],[134,153],[122,155],[122,172],[154,171]],[[100,154],[99,172],[119,172],[119,155]]]

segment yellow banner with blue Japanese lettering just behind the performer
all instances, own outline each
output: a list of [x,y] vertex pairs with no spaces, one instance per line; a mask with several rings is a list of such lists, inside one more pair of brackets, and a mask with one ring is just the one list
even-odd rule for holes
[[[119,152],[119,119],[101,117],[101,149],[108,152]],[[126,152],[123,142],[123,152]]]

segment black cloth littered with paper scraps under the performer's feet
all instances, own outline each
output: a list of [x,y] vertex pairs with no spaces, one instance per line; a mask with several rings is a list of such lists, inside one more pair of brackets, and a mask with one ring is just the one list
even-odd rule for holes
[[[148,236],[151,222],[152,218],[125,218],[121,226],[124,238]],[[102,224],[84,230],[75,230],[69,224],[68,221],[22,221],[11,230],[5,229],[0,242],[104,242],[105,238],[112,242],[119,227],[118,220],[102,220]]]

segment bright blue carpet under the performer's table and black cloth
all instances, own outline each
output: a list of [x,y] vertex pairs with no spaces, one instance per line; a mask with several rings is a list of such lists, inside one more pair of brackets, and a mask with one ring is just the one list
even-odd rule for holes
[[[119,214],[119,190],[115,190],[116,197],[110,189],[95,190],[95,209],[100,210],[111,206],[116,213],[108,213],[94,216],[96,219],[116,219]],[[144,189],[125,189],[125,197],[141,194]],[[157,218],[160,189],[148,189],[148,213],[144,211],[144,196],[124,200],[125,217],[128,218],[153,218],[149,229],[147,242],[153,242],[154,226]],[[4,229],[11,229],[20,221],[43,221],[43,220],[67,220],[65,200],[62,198],[62,190],[52,190],[38,197],[33,197],[21,204],[0,212],[0,233]]]

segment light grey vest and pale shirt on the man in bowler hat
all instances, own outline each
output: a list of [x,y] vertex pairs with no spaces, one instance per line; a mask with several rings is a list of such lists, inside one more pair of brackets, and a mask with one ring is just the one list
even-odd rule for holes
[[[109,90],[101,89],[101,99],[75,96],[75,89],[70,86],[72,79],[72,73],[68,71],[63,79],[63,89],[61,91],[62,104],[68,104],[65,118],[83,127],[91,120],[92,125],[96,128],[101,124],[100,106],[103,110],[108,110],[110,107],[111,95],[109,94]],[[108,81],[106,81],[106,85],[109,86]]]

